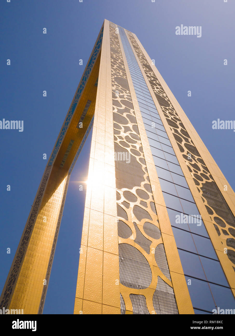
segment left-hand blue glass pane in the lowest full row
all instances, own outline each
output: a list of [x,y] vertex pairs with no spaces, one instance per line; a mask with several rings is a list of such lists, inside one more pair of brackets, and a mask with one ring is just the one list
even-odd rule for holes
[[[215,308],[215,303],[208,283],[189,277],[185,277],[185,280],[187,285],[191,283],[191,285],[188,285],[188,291],[193,307],[212,311]],[[188,280],[191,280],[191,282]]]

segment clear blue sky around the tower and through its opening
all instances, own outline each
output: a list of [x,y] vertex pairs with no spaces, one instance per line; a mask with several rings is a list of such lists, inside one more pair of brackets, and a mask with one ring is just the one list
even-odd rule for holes
[[[105,18],[137,35],[235,188],[235,133],[212,129],[217,118],[235,119],[234,12],[232,0],[1,1],[0,120],[23,120],[24,130],[0,130],[0,291],[46,165],[43,154],[51,154]],[[181,24],[201,26],[201,38],[177,36]],[[76,181],[86,179],[90,142],[91,134],[71,174],[44,313],[73,313],[85,199]]]

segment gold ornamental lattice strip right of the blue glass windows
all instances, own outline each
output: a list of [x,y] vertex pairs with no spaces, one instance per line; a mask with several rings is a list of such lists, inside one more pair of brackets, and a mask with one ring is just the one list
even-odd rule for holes
[[[227,246],[232,248],[227,249],[227,256],[235,264],[235,239],[233,238],[235,237],[235,229],[233,228],[235,227],[235,217],[134,36],[128,31],[127,35],[166,117],[180,152],[185,159],[188,170],[193,176],[193,181],[211,217],[216,232],[218,236],[222,235],[223,239],[226,240]],[[233,269],[235,271],[234,266]]]

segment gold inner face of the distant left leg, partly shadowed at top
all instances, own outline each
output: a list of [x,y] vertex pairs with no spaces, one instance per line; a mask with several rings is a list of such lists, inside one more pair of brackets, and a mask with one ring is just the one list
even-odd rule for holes
[[[59,181],[54,174],[60,176]],[[67,178],[63,171],[52,168],[9,309],[23,307],[24,314],[38,313]]]

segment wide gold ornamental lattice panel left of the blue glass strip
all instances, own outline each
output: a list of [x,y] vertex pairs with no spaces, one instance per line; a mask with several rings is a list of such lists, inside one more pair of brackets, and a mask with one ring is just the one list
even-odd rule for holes
[[155,305],[178,314],[118,34],[109,27],[121,313],[149,314]]

